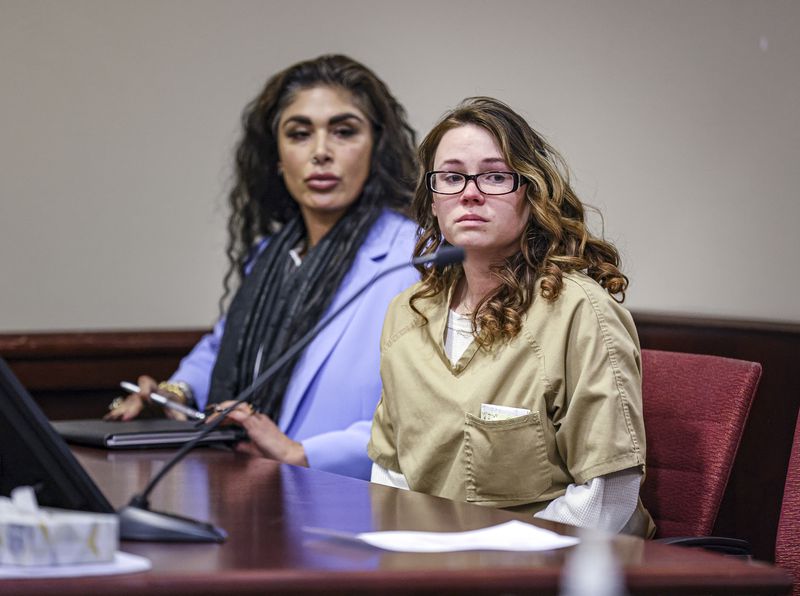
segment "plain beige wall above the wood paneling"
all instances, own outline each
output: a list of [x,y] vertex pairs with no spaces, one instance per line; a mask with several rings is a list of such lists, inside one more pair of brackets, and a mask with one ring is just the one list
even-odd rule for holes
[[0,331],[209,325],[241,108],[323,52],[518,108],[636,310],[800,322],[800,2],[0,0]]

